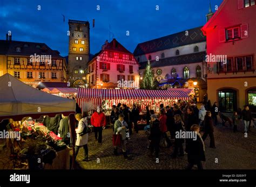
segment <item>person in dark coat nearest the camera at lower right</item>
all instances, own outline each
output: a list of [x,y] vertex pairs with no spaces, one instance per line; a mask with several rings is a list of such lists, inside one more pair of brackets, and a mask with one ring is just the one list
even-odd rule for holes
[[205,161],[205,146],[204,141],[199,133],[199,125],[192,125],[191,131],[197,133],[197,139],[187,139],[187,169],[192,169],[196,164],[198,169],[203,169],[201,161]]

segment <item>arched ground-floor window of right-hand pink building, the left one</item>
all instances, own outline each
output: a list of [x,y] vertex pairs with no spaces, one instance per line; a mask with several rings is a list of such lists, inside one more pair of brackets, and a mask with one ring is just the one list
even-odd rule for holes
[[219,110],[221,112],[234,112],[237,110],[237,91],[223,89],[218,91]]

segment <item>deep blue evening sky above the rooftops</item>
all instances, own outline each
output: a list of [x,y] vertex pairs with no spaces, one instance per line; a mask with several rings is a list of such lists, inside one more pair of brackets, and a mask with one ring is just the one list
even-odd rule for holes
[[[222,1],[211,0],[212,10]],[[109,39],[109,25],[114,38],[133,52],[140,42],[204,25],[208,7],[209,0],[0,0],[0,39],[10,30],[13,40],[44,42],[66,56],[68,19],[88,20],[92,54]]]

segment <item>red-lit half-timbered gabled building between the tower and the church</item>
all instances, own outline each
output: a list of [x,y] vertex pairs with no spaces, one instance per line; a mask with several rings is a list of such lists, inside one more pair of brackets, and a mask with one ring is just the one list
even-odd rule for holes
[[139,88],[139,64],[116,39],[105,42],[88,63],[87,70],[89,88]]

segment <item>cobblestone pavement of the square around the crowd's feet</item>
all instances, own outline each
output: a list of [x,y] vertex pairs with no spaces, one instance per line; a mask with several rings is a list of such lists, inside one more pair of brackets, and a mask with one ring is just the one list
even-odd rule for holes
[[[242,129],[242,124],[238,126],[240,132],[237,133],[233,133],[232,127],[222,125],[215,127],[217,149],[209,148],[210,138],[207,138],[205,141],[206,162],[203,163],[205,169],[256,169],[256,129],[252,128],[252,132],[248,133],[248,138],[245,138]],[[99,145],[94,139],[94,134],[90,133],[88,147],[91,161],[82,161],[83,148],[81,148],[77,156],[78,167],[80,169],[185,169],[187,155],[171,159],[173,147],[161,148],[159,163],[156,163],[156,160],[149,156],[147,145],[147,136],[144,131],[132,134],[131,140],[126,144],[132,160],[125,160],[121,154],[113,155],[111,129],[103,131],[102,145]],[[122,152],[120,148],[118,150],[119,153]]]

